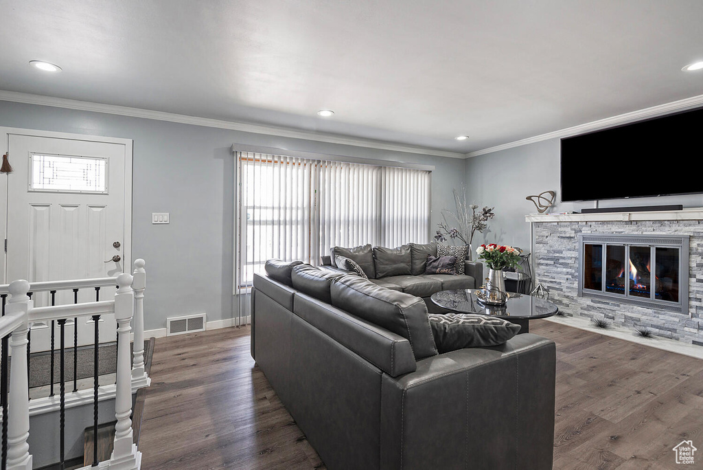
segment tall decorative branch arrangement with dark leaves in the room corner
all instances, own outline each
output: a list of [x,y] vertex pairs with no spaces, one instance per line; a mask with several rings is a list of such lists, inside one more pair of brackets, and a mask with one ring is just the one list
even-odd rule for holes
[[[437,227],[437,235],[434,239],[437,241],[446,241],[446,237],[449,239],[458,239],[464,245],[470,245],[474,239],[474,234],[479,231],[483,231],[488,227],[488,220],[492,219],[495,214],[493,212],[494,208],[489,208],[487,205],[477,212],[479,208],[476,204],[469,204],[466,201],[466,188],[461,187],[460,191],[456,189],[453,190],[454,193],[454,204],[456,205],[456,212],[451,212],[451,210],[444,209],[441,211],[441,216],[444,222],[439,222]],[[471,212],[469,212],[471,210]],[[456,227],[451,227],[447,217],[456,220]]]

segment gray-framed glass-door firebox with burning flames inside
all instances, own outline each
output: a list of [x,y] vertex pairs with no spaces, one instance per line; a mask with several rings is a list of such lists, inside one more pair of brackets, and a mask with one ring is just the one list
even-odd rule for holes
[[688,313],[688,284],[680,282],[687,279],[682,267],[688,263],[688,236],[613,234],[580,239],[579,296],[618,298]]

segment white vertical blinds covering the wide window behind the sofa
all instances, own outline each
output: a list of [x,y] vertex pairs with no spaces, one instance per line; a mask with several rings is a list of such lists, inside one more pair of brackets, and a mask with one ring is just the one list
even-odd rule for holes
[[318,265],[333,246],[430,238],[425,170],[237,153],[235,293],[271,258]]

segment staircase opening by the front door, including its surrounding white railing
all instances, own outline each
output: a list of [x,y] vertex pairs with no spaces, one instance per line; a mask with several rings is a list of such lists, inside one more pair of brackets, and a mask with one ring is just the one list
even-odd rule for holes
[[[115,278],[32,284],[18,280],[0,286],[3,313],[0,318],[2,470],[29,470],[33,466],[46,469],[90,469],[97,466],[99,469],[120,470],[136,470],[141,467],[141,452],[138,451],[133,422],[133,419],[141,422],[141,412],[136,413],[137,407],[132,409],[132,395],[148,386],[150,379],[145,364],[143,338],[145,263],[136,260],[134,265],[134,276],[124,273]],[[101,287],[115,285],[117,291],[110,300],[99,299]],[[94,289],[97,293],[96,301],[77,303],[79,289]],[[76,303],[55,305],[56,293],[65,290],[75,293]],[[34,307],[32,296],[37,292],[50,293],[51,305]],[[101,322],[105,315],[115,316],[116,322],[111,324],[111,333],[104,331],[105,328],[110,329],[110,322]],[[79,347],[75,333],[73,344],[67,348],[66,340],[70,341],[70,338],[67,338],[66,329],[73,322],[73,331],[77,331],[79,321],[92,322],[95,336],[93,345]],[[29,388],[29,367],[33,360],[38,360],[37,355],[29,354],[32,327],[35,325],[44,329],[51,325],[52,339],[49,353],[51,383],[49,387],[44,387],[46,393],[39,395],[36,389],[30,392]],[[57,330],[58,338],[54,338]],[[130,349],[132,332],[134,351]],[[99,342],[101,336],[112,338],[112,343],[117,340],[116,372],[114,379],[110,376],[108,381],[105,381],[107,376],[101,377],[98,370],[101,350],[103,353],[105,351],[105,344]],[[56,339],[58,349],[55,349]],[[74,355],[74,351],[78,353]],[[10,357],[12,360],[9,360]],[[79,379],[77,371],[85,368],[84,362],[88,357],[91,357],[93,364],[92,378]],[[32,423],[41,423],[32,426],[32,431],[30,419]],[[112,424],[110,421],[113,421]],[[91,426],[85,432],[82,431],[89,423]],[[72,437],[76,429],[81,430],[81,435],[88,433],[92,436],[89,439],[92,455],[80,457],[78,462],[73,448],[76,439]],[[41,435],[42,431],[46,436]],[[111,435],[108,438],[111,443],[108,445],[103,444],[104,438],[101,439],[105,433]],[[101,453],[101,449],[110,449],[109,455]],[[48,465],[47,460],[49,463],[58,461],[58,464]]]

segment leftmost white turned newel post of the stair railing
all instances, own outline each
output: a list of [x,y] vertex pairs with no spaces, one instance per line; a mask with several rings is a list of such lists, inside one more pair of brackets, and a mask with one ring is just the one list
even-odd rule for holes
[[6,313],[22,312],[22,324],[10,336],[12,364],[10,368],[10,393],[8,397],[8,470],[31,470],[32,455],[27,438],[30,437],[30,395],[27,378],[27,331],[32,300],[27,296],[30,283],[13,281],[9,286],[10,298]]

